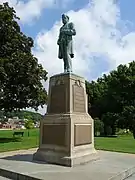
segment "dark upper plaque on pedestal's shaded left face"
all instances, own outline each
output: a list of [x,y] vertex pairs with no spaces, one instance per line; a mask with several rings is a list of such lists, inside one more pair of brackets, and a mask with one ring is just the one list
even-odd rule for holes
[[56,85],[51,88],[51,100],[49,113],[66,112],[66,87],[64,84]]

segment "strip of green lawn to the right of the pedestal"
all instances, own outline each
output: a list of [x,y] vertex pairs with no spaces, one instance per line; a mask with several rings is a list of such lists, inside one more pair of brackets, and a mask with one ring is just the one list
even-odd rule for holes
[[132,135],[122,135],[117,138],[96,137],[95,148],[135,154],[135,139]]

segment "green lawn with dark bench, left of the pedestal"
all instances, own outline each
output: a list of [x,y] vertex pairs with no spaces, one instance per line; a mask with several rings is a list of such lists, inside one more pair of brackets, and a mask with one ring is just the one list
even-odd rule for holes
[[0,152],[38,147],[39,130],[29,130],[29,137],[27,130],[21,131],[24,131],[24,137],[16,136],[14,138],[14,130],[0,130]]

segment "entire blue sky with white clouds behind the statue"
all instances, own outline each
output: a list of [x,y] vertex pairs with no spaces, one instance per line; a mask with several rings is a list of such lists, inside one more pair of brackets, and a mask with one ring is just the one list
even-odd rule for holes
[[[86,80],[128,64],[135,57],[135,0],[0,0],[14,7],[22,31],[34,39],[32,53],[48,71],[63,72],[57,38],[66,13],[74,23],[73,72]],[[48,81],[44,84],[48,90]],[[44,114],[46,107],[40,108]]]

